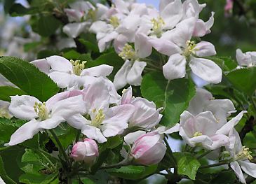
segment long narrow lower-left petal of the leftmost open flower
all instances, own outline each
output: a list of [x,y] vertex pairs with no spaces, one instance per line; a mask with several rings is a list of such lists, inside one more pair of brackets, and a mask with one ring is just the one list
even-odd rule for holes
[[11,135],[10,141],[6,143],[4,146],[17,145],[18,143],[22,143],[28,139],[32,139],[35,134],[41,131],[39,125],[40,122],[38,122],[35,119],[26,122]]

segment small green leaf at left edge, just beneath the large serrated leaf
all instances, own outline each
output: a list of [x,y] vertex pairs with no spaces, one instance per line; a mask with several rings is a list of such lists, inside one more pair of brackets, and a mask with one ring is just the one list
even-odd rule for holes
[[26,93],[16,87],[0,86],[0,100],[11,101],[10,96],[15,96],[16,94],[23,95]]

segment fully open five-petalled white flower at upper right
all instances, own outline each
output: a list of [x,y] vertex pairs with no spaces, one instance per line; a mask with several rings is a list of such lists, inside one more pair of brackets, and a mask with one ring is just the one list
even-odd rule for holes
[[189,62],[191,71],[196,76],[209,83],[220,83],[222,69],[215,62],[201,58],[215,55],[214,45],[206,41],[201,41],[200,43],[190,41],[195,22],[194,17],[183,20],[166,36],[150,40],[157,51],[170,56],[168,62],[163,66],[163,75],[168,80],[184,78],[186,65]]

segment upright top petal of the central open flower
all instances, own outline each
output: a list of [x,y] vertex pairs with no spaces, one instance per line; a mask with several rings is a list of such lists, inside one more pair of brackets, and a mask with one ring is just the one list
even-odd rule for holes
[[104,80],[95,80],[95,83],[86,86],[83,100],[86,101],[86,109],[90,111],[105,109],[109,107],[109,89]]

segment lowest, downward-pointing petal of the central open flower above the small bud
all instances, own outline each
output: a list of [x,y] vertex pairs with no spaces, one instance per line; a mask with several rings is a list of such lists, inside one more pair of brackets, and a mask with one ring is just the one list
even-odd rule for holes
[[94,139],[98,143],[107,142],[107,139],[105,138],[105,136],[103,136],[102,132],[97,127],[92,127],[92,126],[86,125],[83,127],[81,132],[84,135],[86,135],[88,138]]

